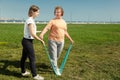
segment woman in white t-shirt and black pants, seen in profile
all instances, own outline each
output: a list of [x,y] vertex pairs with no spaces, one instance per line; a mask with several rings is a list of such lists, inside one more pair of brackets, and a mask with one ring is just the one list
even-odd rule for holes
[[30,62],[30,69],[32,76],[35,80],[44,80],[43,77],[37,75],[36,73],[36,65],[35,65],[35,53],[33,48],[33,40],[37,39],[41,41],[44,44],[44,41],[41,40],[36,35],[36,24],[34,21],[34,18],[36,18],[39,15],[39,7],[32,5],[29,8],[28,16],[29,18],[26,20],[24,25],[24,37],[22,39],[22,57],[21,57],[21,72],[22,76],[28,76],[30,72],[26,71],[25,68],[25,61],[27,58],[29,58]]

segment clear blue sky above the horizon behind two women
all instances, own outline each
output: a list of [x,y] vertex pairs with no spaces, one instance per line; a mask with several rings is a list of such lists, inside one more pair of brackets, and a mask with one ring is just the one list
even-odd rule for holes
[[120,0],[0,0],[0,17],[26,19],[33,4],[40,7],[41,21],[52,19],[57,5],[66,21],[120,21]]

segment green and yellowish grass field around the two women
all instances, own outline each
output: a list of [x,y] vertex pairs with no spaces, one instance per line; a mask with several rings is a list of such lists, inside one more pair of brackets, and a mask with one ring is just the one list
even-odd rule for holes
[[[75,44],[62,76],[53,73],[42,44],[35,40],[37,73],[45,80],[120,80],[120,24],[69,24],[68,32]],[[22,37],[23,24],[0,24],[0,80],[32,80],[20,75]],[[47,34],[44,40],[47,44]],[[66,39],[59,65],[69,44]]]

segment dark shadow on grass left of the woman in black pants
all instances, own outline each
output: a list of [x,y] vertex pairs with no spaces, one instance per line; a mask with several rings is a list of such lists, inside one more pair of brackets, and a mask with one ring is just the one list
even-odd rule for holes
[[[19,68],[19,61],[0,60],[0,74],[21,77],[19,71],[15,71],[13,67]],[[10,70],[11,68],[11,70]]]

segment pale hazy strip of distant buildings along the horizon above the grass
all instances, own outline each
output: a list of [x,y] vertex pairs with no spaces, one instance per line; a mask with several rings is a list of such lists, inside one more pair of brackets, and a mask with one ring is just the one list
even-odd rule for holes
[[[24,19],[0,18],[0,23],[24,23]],[[120,21],[66,21],[68,24],[120,24]],[[37,24],[47,24],[48,21],[36,21]]]

